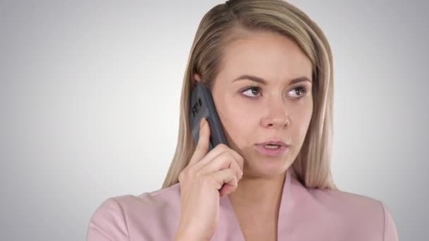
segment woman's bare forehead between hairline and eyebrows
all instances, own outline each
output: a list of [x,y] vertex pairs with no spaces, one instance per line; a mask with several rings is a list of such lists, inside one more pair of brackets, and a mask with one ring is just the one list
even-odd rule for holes
[[268,81],[301,76],[311,79],[312,64],[289,37],[275,32],[251,32],[226,45],[220,72],[257,75]]

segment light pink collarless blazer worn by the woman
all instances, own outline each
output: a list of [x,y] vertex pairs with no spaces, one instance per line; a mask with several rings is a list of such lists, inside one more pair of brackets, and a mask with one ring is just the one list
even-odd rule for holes
[[[138,197],[111,197],[93,214],[87,241],[174,240],[180,214],[180,183]],[[277,232],[278,240],[289,241],[399,240],[394,219],[382,202],[349,192],[307,189],[289,170]],[[228,197],[220,199],[219,225],[212,240],[244,241]]]

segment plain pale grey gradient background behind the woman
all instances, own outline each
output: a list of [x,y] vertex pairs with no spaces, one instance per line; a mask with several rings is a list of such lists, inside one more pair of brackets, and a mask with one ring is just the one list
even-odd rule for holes
[[[334,54],[334,180],[429,240],[428,1],[290,1]],[[162,185],[181,82],[222,1],[0,1],[0,240],[85,240],[108,197]]]

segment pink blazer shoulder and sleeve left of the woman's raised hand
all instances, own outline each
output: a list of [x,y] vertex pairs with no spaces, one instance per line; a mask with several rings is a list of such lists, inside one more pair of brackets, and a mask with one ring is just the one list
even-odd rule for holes
[[110,197],[92,214],[87,240],[168,239],[179,224],[180,198],[179,183],[138,196]]

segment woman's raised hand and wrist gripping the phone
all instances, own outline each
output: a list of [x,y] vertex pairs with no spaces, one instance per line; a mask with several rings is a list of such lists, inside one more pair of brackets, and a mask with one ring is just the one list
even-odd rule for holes
[[219,196],[234,192],[243,176],[243,157],[225,144],[207,153],[209,142],[210,127],[203,118],[195,152],[179,175],[182,209],[176,240],[210,240],[219,221]]

